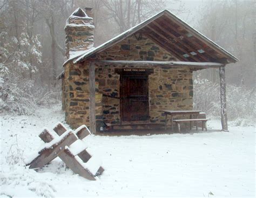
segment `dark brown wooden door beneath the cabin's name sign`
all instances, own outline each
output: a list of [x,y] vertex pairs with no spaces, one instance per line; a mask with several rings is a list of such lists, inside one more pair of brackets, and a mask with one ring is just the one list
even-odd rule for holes
[[122,120],[149,119],[148,76],[122,76]]

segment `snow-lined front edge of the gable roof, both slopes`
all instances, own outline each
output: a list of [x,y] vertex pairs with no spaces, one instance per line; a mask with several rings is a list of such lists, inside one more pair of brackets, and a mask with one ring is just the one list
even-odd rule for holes
[[[184,22],[182,19],[178,18],[177,16],[173,15],[173,13],[169,10],[163,10],[159,13],[157,13],[156,15],[146,19],[144,22],[133,26],[131,29],[124,31],[123,33],[120,33],[120,35],[108,40],[107,42],[99,45],[98,47],[95,47],[95,49],[90,50],[85,52],[83,55],[81,56],[77,56],[78,58],[76,60],[73,60],[73,63],[78,63],[80,61],[82,61],[83,59],[91,56],[92,54],[95,54],[96,52],[100,51],[100,50],[104,50],[107,47],[111,46],[111,44],[113,43],[117,43],[120,40],[132,35],[134,32],[136,32],[136,30],[143,28],[144,26],[146,26],[147,24],[149,24],[150,22],[154,21],[154,19],[163,16],[164,14],[169,15],[170,17],[172,17],[174,20],[178,21],[179,23],[187,26],[187,28],[189,28],[194,34],[196,34],[197,36],[201,37],[202,39],[204,39],[208,44],[212,45],[213,47],[219,49],[221,52],[225,53],[227,56],[229,56],[230,58],[232,58],[233,60],[235,60],[235,62],[238,61],[238,58],[233,56],[231,53],[227,52],[225,49],[223,49],[221,46],[219,46],[217,43],[214,43],[211,39],[207,38],[205,35],[203,35],[202,33],[200,33],[199,31],[197,31],[196,29],[192,28],[192,26],[188,25],[186,22]],[[74,58],[75,59],[75,58]],[[63,64],[65,65],[66,62]]]

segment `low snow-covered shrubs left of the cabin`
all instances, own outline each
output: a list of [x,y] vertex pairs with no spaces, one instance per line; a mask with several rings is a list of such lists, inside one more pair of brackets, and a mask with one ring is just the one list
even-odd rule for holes
[[37,107],[59,101],[60,91],[49,91],[33,80],[0,77],[0,113],[33,114]]

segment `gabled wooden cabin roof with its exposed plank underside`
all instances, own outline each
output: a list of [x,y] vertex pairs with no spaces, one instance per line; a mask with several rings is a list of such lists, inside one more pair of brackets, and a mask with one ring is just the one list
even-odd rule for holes
[[143,33],[183,62],[215,62],[221,64],[235,63],[238,58],[214,43],[186,22],[163,10],[146,21],[121,33],[109,41],[73,57],[74,63],[102,52],[133,35]]

